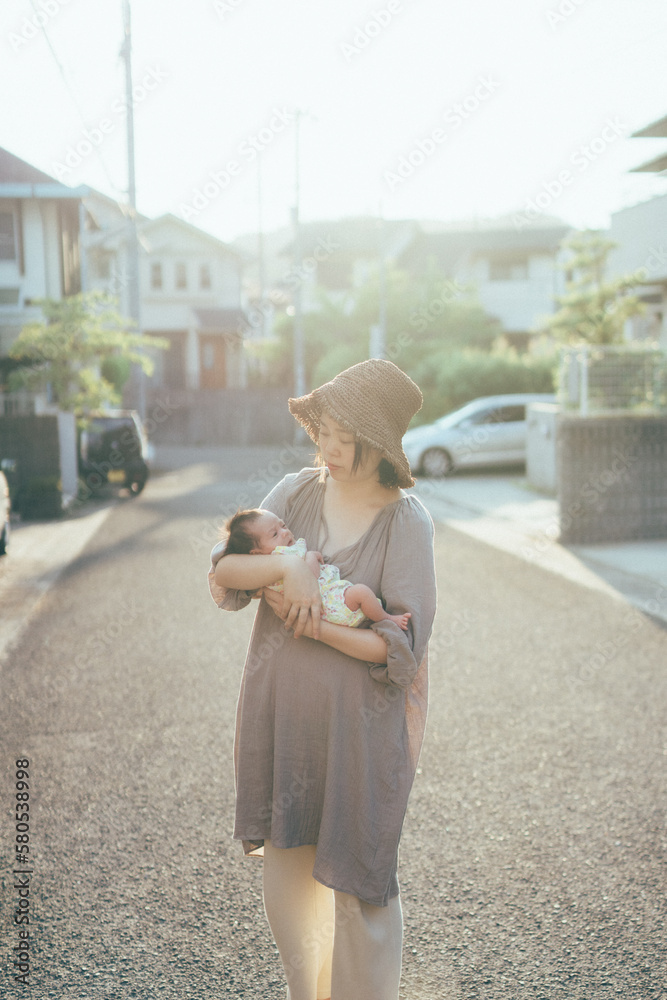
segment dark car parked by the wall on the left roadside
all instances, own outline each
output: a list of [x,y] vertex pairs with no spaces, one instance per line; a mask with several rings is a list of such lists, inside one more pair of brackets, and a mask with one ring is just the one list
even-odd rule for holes
[[134,410],[90,415],[79,436],[79,476],[88,490],[106,485],[141,493],[149,475],[149,445]]

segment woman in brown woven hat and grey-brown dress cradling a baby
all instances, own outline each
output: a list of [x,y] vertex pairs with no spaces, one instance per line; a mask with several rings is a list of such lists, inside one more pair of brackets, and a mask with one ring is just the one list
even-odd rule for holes
[[[213,550],[211,593],[236,610],[265,590],[237,708],[234,837],[264,856],[264,902],[289,1000],[396,1000],[402,915],[398,843],[426,721],[435,613],[433,524],[401,439],[422,396],[390,361],[341,372],[292,414],[321,469],[286,476],[261,506],[341,575],[367,584],[394,622],[320,621],[300,559]],[[293,634],[290,629],[293,629]]]

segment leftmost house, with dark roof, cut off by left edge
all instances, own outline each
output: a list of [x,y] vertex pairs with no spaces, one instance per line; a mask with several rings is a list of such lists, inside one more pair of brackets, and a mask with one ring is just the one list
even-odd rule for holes
[[[26,323],[39,320],[34,302],[81,290],[83,198],[0,149],[0,381],[13,367],[9,348]],[[17,401],[5,400],[5,407]]]

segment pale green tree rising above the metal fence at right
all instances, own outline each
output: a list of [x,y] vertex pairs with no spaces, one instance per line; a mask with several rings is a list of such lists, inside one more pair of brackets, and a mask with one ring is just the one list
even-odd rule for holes
[[594,230],[575,233],[562,248],[569,256],[560,267],[568,274],[565,293],[556,298],[559,309],[540,330],[567,344],[618,344],[625,321],[643,312],[636,295],[635,276],[605,280],[607,258],[615,243]]

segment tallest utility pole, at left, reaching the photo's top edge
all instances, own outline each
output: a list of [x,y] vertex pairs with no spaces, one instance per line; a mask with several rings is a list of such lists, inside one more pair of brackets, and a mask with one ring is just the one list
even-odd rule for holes
[[[134,98],[132,96],[132,26],[130,21],[130,0],[123,0],[123,47],[121,56],[125,61],[125,102],[127,105],[127,197],[129,215],[127,220],[127,264],[128,264],[128,311],[134,320],[137,332],[141,332],[141,293],[139,284],[139,237],[137,234],[137,187],[134,173]],[[136,408],[142,420],[146,418],[146,381],[139,365],[134,370],[134,391]],[[134,402],[134,400],[133,400]]]

